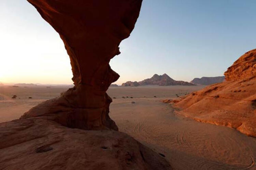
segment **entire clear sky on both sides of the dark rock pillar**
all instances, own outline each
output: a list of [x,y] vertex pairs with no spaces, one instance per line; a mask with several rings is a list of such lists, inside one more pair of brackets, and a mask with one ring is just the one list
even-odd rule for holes
[[[255,0],[144,0],[111,68],[115,82],[154,74],[175,80],[222,76],[256,47]],[[72,84],[58,33],[26,0],[0,0],[0,82]]]

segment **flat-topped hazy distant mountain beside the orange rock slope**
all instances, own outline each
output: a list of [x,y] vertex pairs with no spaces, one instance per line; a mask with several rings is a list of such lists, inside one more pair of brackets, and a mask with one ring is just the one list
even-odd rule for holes
[[225,76],[194,78],[192,81],[190,81],[190,83],[210,85],[215,83],[221,83],[223,81],[225,81]]

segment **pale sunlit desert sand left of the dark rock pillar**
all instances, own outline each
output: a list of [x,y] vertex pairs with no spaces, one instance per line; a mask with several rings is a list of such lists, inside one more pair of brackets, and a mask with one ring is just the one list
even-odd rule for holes
[[[0,87],[0,123],[18,119],[32,107],[48,99],[60,96],[68,88]],[[16,95],[16,98],[12,98]],[[32,97],[32,98],[29,98]]]

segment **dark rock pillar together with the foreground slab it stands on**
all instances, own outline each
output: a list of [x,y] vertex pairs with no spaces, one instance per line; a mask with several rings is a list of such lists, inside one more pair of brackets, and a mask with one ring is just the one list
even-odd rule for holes
[[106,90],[119,77],[109,61],[130,35],[142,0],[28,1],[60,34],[75,86],[0,124],[0,169],[171,169],[159,154],[115,131],[109,117]]

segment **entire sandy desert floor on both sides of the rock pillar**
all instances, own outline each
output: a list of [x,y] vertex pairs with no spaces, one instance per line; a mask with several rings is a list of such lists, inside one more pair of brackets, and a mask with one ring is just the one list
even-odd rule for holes
[[[203,87],[111,87],[110,117],[119,131],[165,156],[174,169],[256,169],[255,138],[228,127],[182,117],[174,113],[171,105],[160,102]],[[31,107],[66,90],[0,87],[0,122],[18,119]],[[13,95],[17,98],[12,99]]]

